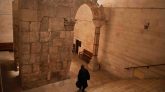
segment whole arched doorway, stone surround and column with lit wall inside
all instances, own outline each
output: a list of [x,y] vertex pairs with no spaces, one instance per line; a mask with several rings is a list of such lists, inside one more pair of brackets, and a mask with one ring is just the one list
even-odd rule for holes
[[74,26],[74,44],[76,44],[77,40],[81,42],[81,47],[77,46],[77,52],[82,52],[85,49],[93,54],[88,67],[91,70],[98,70],[99,36],[102,21],[104,20],[102,6],[99,6],[97,2],[88,0],[82,2],[77,0],[75,6],[75,15],[73,15],[76,20]]

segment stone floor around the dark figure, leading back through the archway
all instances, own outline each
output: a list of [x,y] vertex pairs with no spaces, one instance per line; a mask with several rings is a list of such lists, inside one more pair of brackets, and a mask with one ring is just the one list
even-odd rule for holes
[[[87,63],[79,59],[77,55],[74,55],[72,58],[72,63],[71,63],[71,68],[70,68],[70,79],[49,84],[46,86],[42,86],[39,88],[35,88],[32,90],[23,91],[23,92],[55,92],[55,91],[56,92],[75,92],[77,91],[75,83],[77,80],[78,71],[82,64],[85,65],[85,67],[88,69]],[[115,76],[110,75],[108,72],[102,71],[102,70],[97,71],[97,72],[92,72],[89,70],[89,73],[91,76],[91,80],[88,81],[87,89],[95,88],[97,86],[101,86],[102,84],[106,84],[118,79]]]

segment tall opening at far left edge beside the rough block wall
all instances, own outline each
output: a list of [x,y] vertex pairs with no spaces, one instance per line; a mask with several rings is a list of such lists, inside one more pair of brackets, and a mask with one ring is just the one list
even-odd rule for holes
[[[19,70],[14,56],[16,56],[16,47],[13,29],[13,0],[1,0],[0,23],[0,90],[1,92],[17,92],[20,90]],[[18,29],[18,28],[17,28]]]

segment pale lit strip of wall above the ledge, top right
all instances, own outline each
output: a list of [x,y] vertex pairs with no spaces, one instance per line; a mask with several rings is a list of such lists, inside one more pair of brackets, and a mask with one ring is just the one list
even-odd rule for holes
[[164,8],[164,0],[98,0],[104,7],[127,7],[127,8]]

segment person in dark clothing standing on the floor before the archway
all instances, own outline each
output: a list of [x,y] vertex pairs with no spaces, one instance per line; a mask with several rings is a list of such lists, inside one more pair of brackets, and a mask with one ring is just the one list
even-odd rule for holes
[[84,65],[81,65],[81,69],[78,73],[78,81],[76,82],[76,86],[80,91],[85,92],[85,88],[88,87],[87,80],[90,80],[90,74]]

